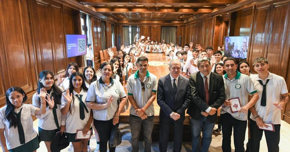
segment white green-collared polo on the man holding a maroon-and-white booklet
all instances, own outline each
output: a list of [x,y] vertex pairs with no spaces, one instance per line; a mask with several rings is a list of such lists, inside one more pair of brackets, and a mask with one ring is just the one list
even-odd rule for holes
[[[257,92],[251,78],[238,71],[236,77],[232,80],[230,80],[227,74],[225,74],[223,76],[223,81],[225,84],[226,100],[239,97],[241,107],[244,107],[246,104],[248,104],[249,93],[254,94]],[[248,112],[247,113],[232,112],[230,106],[222,106],[220,114],[224,114],[226,112],[231,114],[234,118],[238,120],[248,120]]]

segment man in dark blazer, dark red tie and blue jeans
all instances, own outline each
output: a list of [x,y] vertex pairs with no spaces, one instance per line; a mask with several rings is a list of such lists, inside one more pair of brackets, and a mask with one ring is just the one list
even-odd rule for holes
[[[191,142],[193,152],[207,152],[212,141],[212,129],[216,122],[217,109],[224,103],[226,95],[223,77],[210,72],[207,58],[198,60],[197,73],[190,75],[190,115]],[[202,145],[199,147],[202,131]]]

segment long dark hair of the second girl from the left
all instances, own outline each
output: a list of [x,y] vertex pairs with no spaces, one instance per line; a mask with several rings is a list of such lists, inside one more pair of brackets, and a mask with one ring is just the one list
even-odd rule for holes
[[[48,74],[54,77],[53,72],[48,71],[48,70],[43,70],[42,72],[39,73],[39,79],[44,79]],[[37,87],[38,94],[40,94],[41,88],[43,88],[43,84],[40,81],[38,81],[38,87]],[[56,86],[55,81],[53,81],[53,86],[51,88],[53,90],[51,97],[53,97],[54,103],[61,104],[61,90],[59,89],[59,87]],[[40,99],[39,99],[39,102],[40,102]],[[48,105],[47,102],[46,102],[46,105]]]

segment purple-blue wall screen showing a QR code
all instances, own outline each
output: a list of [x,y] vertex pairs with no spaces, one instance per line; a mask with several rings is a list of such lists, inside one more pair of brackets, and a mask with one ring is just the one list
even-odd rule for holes
[[87,35],[66,35],[67,57],[87,54]]

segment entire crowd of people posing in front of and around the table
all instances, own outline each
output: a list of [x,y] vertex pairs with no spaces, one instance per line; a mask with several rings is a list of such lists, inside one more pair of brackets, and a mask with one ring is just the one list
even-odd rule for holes
[[[147,52],[168,56],[169,74],[157,79],[148,71]],[[145,147],[151,151],[154,126],[153,101],[160,106],[159,149],[166,151],[170,126],[173,124],[174,148],[181,151],[185,110],[191,117],[192,150],[208,151],[211,135],[220,109],[223,129],[222,149],[231,151],[234,130],[235,151],[245,151],[244,140],[248,121],[247,151],[259,151],[263,130],[270,123],[274,131],[264,131],[268,151],[279,151],[280,109],[288,102],[288,90],[283,77],[268,71],[268,60],[256,58],[252,63],[258,74],[252,74],[248,62],[236,63],[223,56],[223,47],[213,52],[193,43],[182,48],[173,43],[163,44],[139,39],[129,46],[121,46],[114,53],[108,49],[110,62],[104,62],[98,71],[87,66],[82,73],[76,63],[68,64],[65,75],[54,80],[53,72],[39,73],[37,92],[32,104],[24,104],[27,95],[20,87],[6,91],[6,105],[0,109],[0,144],[3,151],[36,151],[44,141],[48,151],[57,132],[66,134],[74,151],[88,151],[89,139],[76,139],[77,130],[83,134],[94,129],[96,151],[107,151],[107,144],[119,116],[131,104],[129,125],[132,151],[139,151],[139,135],[143,125]],[[127,87],[127,95],[124,87]],[[267,96],[267,97],[266,97]],[[229,99],[239,97],[240,110],[231,110]],[[38,121],[38,134],[33,129],[31,115]],[[203,138],[200,145],[200,133]],[[251,140],[250,140],[251,139]],[[110,151],[116,147],[109,145]]]

